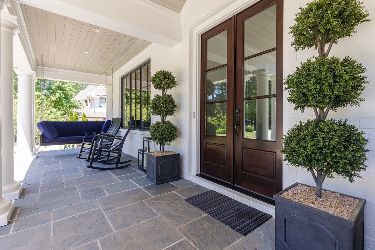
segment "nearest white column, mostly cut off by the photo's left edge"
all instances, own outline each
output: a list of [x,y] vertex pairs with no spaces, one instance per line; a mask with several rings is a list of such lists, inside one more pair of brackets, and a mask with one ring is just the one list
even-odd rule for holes
[[[3,2],[4,0],[0,0],[0,10],[3,9]],[[0,14],[2,17],[2,13]],[[2,21],[2,19],[0,19]],[[3,33],[3,30],[1,29],[0,33]],[[2,34],[0,34],[0,36],[2,37]],[[0,43],[1,43],[1,39],[0,39]],[[1,46],[0,46],[1,47]],[[1,57],[2,57],[2,49],[0,50],[0,64],[1,64]],[[13,65],[13,64],[12,64]],[[0,84],[2,84],[2,75],[3,75],[3,72],[1,71],[1,68],[0,68]],[[2,127],[2,124],[1,124],[1,121],[2,121],[2,118],[1,118],[1,95],[0,95],[0,127]],[[1,152],[1,130],[0,130],[0,152]],[[3,154],[1,153],[0,154],[0,186],[1,186],[1,167],[2,167],[2,164],[1,164],[1,159],[3,157]],[[0,189],[0,226],[5,226],[8,224],[8,221],[9,221],[9,218],[10,216],[12,215],[13,213],[13,210],[14,210],[14,201],[10,201],[9,199],[5,199],[2,197],[2,192],[1,192],[1,189]]]

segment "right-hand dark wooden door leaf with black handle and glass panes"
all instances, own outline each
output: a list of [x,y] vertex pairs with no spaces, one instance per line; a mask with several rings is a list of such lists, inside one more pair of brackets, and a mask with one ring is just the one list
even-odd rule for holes
[[282,2],[237,15],[235,184],[272,197],[282,189]]

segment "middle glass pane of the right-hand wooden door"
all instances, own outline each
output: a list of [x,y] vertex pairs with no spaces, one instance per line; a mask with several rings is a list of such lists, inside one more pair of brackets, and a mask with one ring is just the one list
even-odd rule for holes
[[276,94],[276,51],[245,60],[243,97]]

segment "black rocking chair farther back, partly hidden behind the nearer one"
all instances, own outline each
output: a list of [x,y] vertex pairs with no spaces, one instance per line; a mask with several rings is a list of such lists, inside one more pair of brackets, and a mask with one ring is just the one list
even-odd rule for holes
[[[118,130],[120,130],[120,126],[121,126],[121,118],[114,118],[112,121],[111,121],[111,126],[110,128],[108,129],[107,133],[100,133],[101,135],[106,135],[106,136],[115,136],[117,135],[117,132]],[[78,155],[77,158],[79,159],[85,159],[85,160],[90,160],[91,158],[91,154],[92,154],[92,150],[93,150],[93,146],[94,146],[94,142],[96,139],[98,139],[97,136],[95,136],[92,141],[85,141],[87,136],[89,135],[94,135],[94,133],[90,133],[90,132],[84,132],[86,135],[85,137],[83,138],[83,141],[82,141],[82,145],[81,145],[81,150],[80,150],[80,154]],[[113,140],[112,140],[113,141]],[[103,140],[103,143],[104,144],[110,144],[112,141],[108,141],[108,140]],[[89,147],[84,147],[84,145],[90,145],[90,148]],[[89,153],[88,155],[87,154],[83,154],[83,153]],[[81,155],[83,156],[87,156],[87,157],[81,157]]]

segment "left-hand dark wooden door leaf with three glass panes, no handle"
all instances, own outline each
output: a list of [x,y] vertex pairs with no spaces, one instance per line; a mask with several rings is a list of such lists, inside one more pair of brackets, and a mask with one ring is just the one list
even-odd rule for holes
[[233,183],[234,34],[229,19],[202,34],[201,173]]

